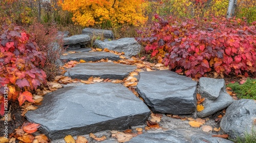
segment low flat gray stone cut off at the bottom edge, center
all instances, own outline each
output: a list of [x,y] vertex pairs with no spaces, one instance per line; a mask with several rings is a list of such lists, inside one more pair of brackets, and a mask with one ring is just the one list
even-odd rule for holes
[[190,141],[186,140],[182,134],[175,130],[169,130],[166,132],[160,133],[144,133],[140,134],[127,143],[189,143]]

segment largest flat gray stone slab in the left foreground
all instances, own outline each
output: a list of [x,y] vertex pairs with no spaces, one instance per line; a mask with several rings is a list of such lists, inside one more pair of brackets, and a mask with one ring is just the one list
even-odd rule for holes
[[103,130],[126,130],[145,124],[151,111],[121,84],[66,86],[44,96],[38,109],[28,111],[29,122],[51,139]]

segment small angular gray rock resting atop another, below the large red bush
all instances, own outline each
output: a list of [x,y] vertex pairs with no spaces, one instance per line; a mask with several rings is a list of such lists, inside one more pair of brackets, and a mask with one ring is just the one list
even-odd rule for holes
[[224,79],[212,79],[205,77],[199,79],[198,93],[209,100],[216,100],[220,95],[220,91],[226,90],[225,88]]

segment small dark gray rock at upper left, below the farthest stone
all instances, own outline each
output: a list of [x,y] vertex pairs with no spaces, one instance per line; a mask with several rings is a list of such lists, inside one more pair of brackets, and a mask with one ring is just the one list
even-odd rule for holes
[[90,41],[91,38],[89,35],[74,35],[67,38],[63,38],[63,45],[69,45],[68,49],[78,49],[80,48],[79,45],[87,44]]

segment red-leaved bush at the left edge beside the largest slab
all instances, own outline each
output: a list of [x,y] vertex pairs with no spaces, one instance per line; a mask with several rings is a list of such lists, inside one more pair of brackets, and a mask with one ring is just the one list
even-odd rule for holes
[[[46,83],[44,67],[46,54],[39,51],[36,42],[19,27],[5,30],[0,38],[0,114],[8,100],[33,102],[31,91]],[[8,110],[7,110],[8,111]]]

